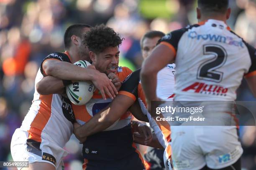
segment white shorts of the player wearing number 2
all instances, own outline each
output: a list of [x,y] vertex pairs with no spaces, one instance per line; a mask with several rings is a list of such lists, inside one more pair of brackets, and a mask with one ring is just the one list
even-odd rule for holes
[[174,170],[225,168],[241,157],[236,126],[172,126]]

